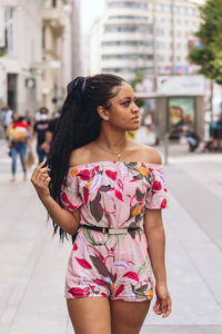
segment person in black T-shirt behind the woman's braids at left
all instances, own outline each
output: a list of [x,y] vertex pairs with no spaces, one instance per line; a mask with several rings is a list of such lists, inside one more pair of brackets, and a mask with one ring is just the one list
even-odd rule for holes
[[43,161],[48,154],[46,132],[49,130],[49,110],[46,107],[40,108],[40,120],[38,120],[33,127],[33,136],[37,134],[37,154],[39,157],[39,164]]

